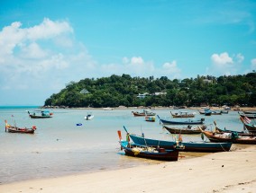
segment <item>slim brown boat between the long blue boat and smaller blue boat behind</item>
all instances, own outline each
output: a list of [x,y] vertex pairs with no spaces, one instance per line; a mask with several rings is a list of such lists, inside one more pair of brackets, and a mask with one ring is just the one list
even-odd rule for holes
[[[167,127],[163,125],[163,127],[169,131],[171,134],[201,134],[201,130],[198,127]],[[206,126],[202,126],[201,128],[206,129]]]

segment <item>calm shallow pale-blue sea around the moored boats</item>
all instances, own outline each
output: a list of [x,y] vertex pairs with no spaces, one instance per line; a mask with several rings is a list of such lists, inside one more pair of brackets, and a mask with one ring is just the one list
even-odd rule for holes
[[[52,109],[52,118],[30,118],[28,111],[33,110],[38,110],[38,107],[0,107],[0,184],[158,164],[160,161],[125,156],[117,135],[121,130],[125,140],[123,127],[130,133],[143,133],[145,137],[161,140],[174,140],[177,136],[163,129],[157,117],[155,122],[134,117],[132,111],[142,111],[136,108]],[[173,113],[196,113],[194,119],[205,118],[208,129],[214,128],[214,121],[222,128],[243,129],[237,111],[233,110],[228,114],[208,117],[200,115],[197,110],[151,111],[160,118],[170,119],[170,110]],[[88,113],[94,118],[86,120]],[[5,120],[17,127],[36,126],[37,129],[34,134],[8,133],[5,132]],[[182,137],[184,141],[207,140],[201,135]],[[188,155],[180,156],[179,160],[185,156]]]

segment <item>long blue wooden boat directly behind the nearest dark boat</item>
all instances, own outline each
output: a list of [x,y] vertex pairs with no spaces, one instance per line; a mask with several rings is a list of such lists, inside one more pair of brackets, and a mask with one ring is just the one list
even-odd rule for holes
[[[177,141],[165,141],[160,139],[146,138],[144,136],[137,136],[134,134],[129,134],[127,129],[123,127],[126,133],[131,137],[133,142],[138,145],[150,145],[153,147],[160,147],[165,149],[176,148]],[[183,142],[184,148],[178,151],[182,152],[205,152],[205,153],[215,153],[215,152],[227,152],[230,150],[232,143],[211,143],[211,142]]]

